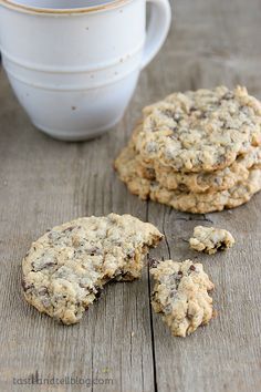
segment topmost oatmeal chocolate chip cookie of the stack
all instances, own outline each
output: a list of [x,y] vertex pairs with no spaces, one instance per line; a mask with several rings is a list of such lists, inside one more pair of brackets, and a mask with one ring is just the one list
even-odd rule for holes
[[175,93],[144,109],[134,143],[145,164],[213,172],[261,144],[261,103],[246,87]]

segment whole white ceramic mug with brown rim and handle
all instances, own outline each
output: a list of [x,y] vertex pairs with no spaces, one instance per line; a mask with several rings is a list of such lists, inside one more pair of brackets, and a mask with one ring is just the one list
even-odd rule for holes
[[168,0],[147,1],[0,0],[3,66],[38,128],[80,141],[122,118],[170,25]]

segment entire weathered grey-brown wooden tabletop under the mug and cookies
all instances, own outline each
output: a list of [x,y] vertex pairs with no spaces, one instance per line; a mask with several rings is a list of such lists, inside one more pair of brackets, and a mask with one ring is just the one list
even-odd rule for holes
[[[122,123],[88,143],[35,131],[0,76],[0,390],[260,391],[261,195],[231,212],[195,216],[132,196],[112,163],[144,105],[178,90],[242,83],[261,99],[260,0],[176,1],[168,41],[142,74]],[[230,229],[237,246],[198,256],[216,283],[218,318],[187,339],[170,337],[149,306],[150,281],[107,286],[82,322],[63,327],[23,301],[21,259],[46,228],[71,218],[130,213],[156,224],[157,256],[195,258],[194,226]],[[93,380],[27,385],[24,379]],[[73,379],[71,380],[73,382]],[[23,385],[19,384],[23,383]]]

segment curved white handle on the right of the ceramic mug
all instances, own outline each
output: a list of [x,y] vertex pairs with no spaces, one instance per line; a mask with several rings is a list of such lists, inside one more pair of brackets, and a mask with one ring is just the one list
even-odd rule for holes
[[168,0],[146,0],[150,2],[152,14],[142,61],[142,69],[148,65],[163,47],[171,22],[171,8]]

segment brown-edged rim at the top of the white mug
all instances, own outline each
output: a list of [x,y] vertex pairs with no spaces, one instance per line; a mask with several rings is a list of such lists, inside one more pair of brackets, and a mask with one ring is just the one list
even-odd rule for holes
[[12,0],[0,0],[0,6],[3,6],[8,9],[13,9],[17,11],[33,13],[38,16],[69,16],[69,14],[85,14],[91,12],[106,11],[113,8],[124,6],[127,2],[133,0],[113,0],[109,3],[91,6],[91,7],[81,7],[81,8],[65,8],[65,9],[52,9],[52,8],[38,8],[31,6],[19,4]]

